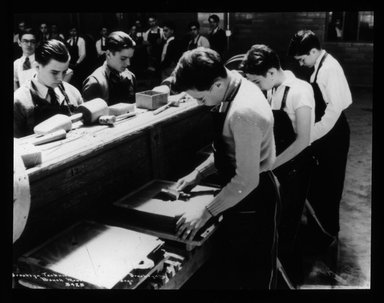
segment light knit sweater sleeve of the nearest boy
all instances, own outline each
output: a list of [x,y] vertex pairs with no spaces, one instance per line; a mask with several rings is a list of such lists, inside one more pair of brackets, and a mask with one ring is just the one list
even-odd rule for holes
[[238,204],[259,184],[263,132],[256,121],[237,114],[233,116],[230,127],[235,143],[236,174],[207,205],[214,216]]

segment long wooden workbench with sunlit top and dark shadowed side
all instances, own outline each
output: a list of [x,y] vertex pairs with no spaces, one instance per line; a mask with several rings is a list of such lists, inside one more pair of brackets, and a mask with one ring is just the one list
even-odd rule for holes
[[27,170],[31,210],[14,258],[152,179],[188,173],[197,164],[196,152],[211,141],[211,130],[209,111],[189,100],[114,127],[83,126],[43,145],[42,164]]

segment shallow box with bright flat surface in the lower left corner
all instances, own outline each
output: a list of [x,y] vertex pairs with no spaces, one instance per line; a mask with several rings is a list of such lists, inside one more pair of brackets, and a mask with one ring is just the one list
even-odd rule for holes
[[152,235],[81,221],[22,255],[15,276],[22,285],[46,288],[134,289],[164,264],[163,244]]

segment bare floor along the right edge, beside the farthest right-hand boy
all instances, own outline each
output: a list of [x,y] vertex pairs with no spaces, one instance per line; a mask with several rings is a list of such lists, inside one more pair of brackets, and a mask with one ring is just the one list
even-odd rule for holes
[[300,289],[369,289],[371,285],[372,91],[354,89],[352,97],[353,104],[346,110],[351,142],[337,268],[330,270],[319,258],[312,258]]

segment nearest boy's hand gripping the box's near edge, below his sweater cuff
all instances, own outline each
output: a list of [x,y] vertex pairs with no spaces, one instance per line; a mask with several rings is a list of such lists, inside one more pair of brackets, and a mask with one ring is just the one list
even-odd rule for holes
[[[189,202],[188,202],[189,203]],[[176,236],[182,240],[193,240],[196,233],[212,215],[202,203],[189,203],[185,212],[176,222]]]

